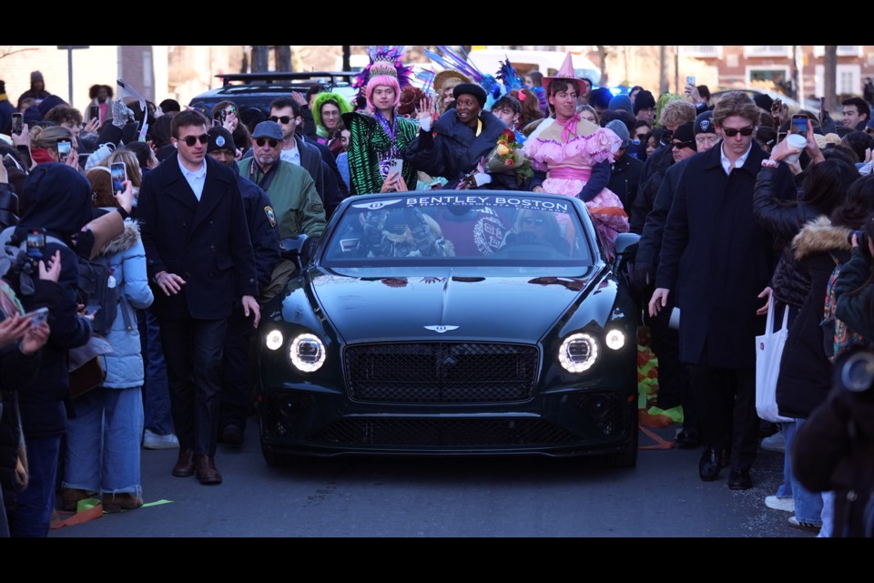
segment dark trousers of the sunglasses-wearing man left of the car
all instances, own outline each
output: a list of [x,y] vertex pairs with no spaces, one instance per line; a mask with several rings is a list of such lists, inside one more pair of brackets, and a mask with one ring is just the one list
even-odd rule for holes
[[161,318],[160,326],[179,447],[216,455],[221,354],[228,321]]

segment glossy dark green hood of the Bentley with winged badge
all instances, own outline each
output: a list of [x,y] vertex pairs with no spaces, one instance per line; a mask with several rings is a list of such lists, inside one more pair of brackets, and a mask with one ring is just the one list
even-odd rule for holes
[[317,271],[312,289],[347,343],[389,338],[531,343],[581,295],[593,292],[597,273],[588,268],[578,277],[367,278]]

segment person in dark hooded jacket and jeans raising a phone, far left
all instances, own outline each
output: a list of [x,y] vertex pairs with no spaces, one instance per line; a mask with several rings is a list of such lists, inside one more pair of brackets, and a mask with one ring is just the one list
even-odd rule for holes
[[[25,182],[22,197],[28,205],[15,228],[18,240],[26,240],[30,230],[45,229],[47,234],[71,242],[91,220],[90,184],[69,166],[37,166]],[[76,252],[46,238],[42,255],[35,293],[19,295],[25,312],[48,307],[51,342],[43,348],[35,380],[19,391],[30,483],[9,515],[13,537],[46,537],[48,533],[55,506],[61,436],[66,433],[65,401],[70,392],[67,353],[87,343],[92,332],[91,323],[79,317],[76,307]],[[56,281],[46,281],[45,276],[55,271]]]

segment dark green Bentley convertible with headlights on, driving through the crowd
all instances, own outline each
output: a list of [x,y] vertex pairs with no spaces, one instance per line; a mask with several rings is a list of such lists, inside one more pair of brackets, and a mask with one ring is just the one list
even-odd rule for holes
[[263,310],[264,457],[635,465],[637,324],[624,264],[636,241],[620,235],[606,261],[583,202],[558,195],[345,200]]

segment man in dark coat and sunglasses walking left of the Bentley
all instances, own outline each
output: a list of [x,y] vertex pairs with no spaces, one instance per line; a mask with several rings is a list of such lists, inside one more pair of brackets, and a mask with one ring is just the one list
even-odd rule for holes
[[137,213],[179,438],[172,474],[221,484],[222,347],[236,298],[258,326],[255,255],[237,176],[207,156],[207,119],[183,111],[171,131],[178,155],[147,173]]

